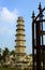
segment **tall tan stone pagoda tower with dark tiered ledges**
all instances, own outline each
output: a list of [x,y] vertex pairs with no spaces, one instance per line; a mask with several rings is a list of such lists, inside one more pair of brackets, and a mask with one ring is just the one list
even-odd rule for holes
[[22,59],[26,56],[26,40],[25,40],[25,25],[24,25],[24,18],[18,17],[17,25],[16,25],[16,45],[15,45],[15,61],[16,67],[19,67],[22,65]]

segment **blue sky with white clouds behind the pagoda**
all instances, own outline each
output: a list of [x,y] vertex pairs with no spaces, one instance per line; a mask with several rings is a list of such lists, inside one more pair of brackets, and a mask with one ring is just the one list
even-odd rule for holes
[[45,8],[45,0],[0,0],[0,47],[15,50],[16,20],[25,20],[26,53],[32,53],[32,12],[39,13],[39,3]]

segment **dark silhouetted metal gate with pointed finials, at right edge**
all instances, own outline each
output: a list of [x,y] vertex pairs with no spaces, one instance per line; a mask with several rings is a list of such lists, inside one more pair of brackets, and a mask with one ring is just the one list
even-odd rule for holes
[[32,53],[33,53],[33,70],[45,70],[45,42],[43,12],[41,3],[39,5],[39,15],[35,17],[32,13]]

